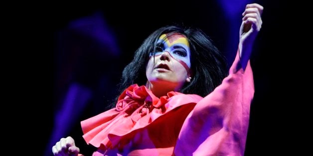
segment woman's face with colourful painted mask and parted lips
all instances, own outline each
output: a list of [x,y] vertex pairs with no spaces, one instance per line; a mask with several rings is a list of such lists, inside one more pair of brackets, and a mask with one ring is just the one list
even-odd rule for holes
[[179,90],[190,82],[190,49],[184,35],[163,34],[157,41],[155,56],[152,52],[146,69],[148,81],[152,85],[164,84]]

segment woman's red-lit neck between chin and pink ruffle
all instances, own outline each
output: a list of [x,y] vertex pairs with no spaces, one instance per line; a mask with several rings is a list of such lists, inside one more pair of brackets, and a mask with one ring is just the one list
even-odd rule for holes
[[165,96],[170,91],[178,91],[179,86],[173,85],[172,83],[161,83],[161,82],[147,82],[146,84],[147,88],[152,91],[154,95],[156,95],[158,98],[161,96]]

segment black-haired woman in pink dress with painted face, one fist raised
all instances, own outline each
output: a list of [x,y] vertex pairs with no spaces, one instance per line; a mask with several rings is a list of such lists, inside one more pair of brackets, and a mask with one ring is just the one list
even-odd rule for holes
[[[229,74],[202,31],[167,26],[152,33],[123,71],[116,107],[81,122],[85,141],[98,148],[93,156],[243,155],[254,94],[249,58],[262,11],[246,6]],[[81,155],[71,137],[52,152]]]

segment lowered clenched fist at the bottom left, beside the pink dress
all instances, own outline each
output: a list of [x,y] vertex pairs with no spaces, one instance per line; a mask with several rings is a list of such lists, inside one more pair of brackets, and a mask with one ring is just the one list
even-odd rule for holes
[[52,147],[54,156],[77,156],[79,148],[72,137],[62,138]]

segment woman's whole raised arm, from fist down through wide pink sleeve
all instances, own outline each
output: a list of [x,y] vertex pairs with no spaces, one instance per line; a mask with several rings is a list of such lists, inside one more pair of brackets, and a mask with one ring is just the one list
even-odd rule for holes
[[254,95],[253,73],[248,61],[252,44],[261,28],[262,10],[259,4],[246,6],[240,29],[240,52],[230,74],[189,113],[181,127],[175,155],[244,155],[250,104]]

